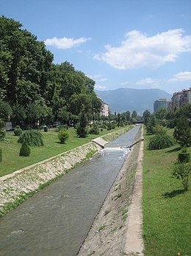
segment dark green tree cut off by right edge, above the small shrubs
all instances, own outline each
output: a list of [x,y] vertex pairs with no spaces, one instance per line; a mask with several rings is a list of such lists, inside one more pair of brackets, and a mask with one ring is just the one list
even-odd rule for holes
[[191,146],[191,128],[187,117],[181,117],[176,123],[176,128],[173,133],[176,142],[179,143],[181,148]]

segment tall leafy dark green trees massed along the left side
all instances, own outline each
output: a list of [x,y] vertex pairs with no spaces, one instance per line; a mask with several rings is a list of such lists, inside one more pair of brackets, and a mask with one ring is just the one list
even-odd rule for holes
[[72,120],[99,114],[95,81],[54,56],[18,21],[0,17],[0,118],[15,125]]

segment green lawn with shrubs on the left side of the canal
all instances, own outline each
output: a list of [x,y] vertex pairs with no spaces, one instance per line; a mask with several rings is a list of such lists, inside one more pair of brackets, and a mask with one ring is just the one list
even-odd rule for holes
[[98,136],[103,136],[105,134],[111,133],[113,131],[118,131],[120,128],[116,127],[115,130],[107,131],[103,129],[100,134],[89,134],[86,138],[79,138],[76,136],[76,130],[74,128],[69,128],[68,132],[70,134],[69,139],[65,144],[60,144],[58,139],[58,133],[54,129],[51,131],[44,132],[43,140],[44,146],[37,148],[31,147],[30,156],[19,156],[19,151],[21,144],[18,143],[18,136],[12,133],[7,133],[6,141],[0,142],[0,148],[2,148],[2,162],[0,162],[0,176],[7,175],[14,172],[15,170],[20,170],[23,167],[33,165],[37,162],[43,161],[50,158],[51,156],[57,156],[59,153],[64,153],[73,148],[84,145],[90,142],[91,139],[95,139]]

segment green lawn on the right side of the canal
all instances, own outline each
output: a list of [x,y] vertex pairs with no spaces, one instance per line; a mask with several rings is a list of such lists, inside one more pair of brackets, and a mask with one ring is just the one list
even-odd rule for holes
[[[168,134],[172,134],[169,130]],[[145,256],[191,255],[191,184],[184,193],[180,180],[172,177],[179,145],[148,151],[143,156],[143,238]],[[191,148],[188,148],[191,153]],[[190,182],[191,183],[191,182]]]

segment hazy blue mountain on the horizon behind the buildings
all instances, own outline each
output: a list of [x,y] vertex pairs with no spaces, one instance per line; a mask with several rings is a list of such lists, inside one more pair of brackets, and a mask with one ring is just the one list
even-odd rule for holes
[[159,99],[170,100],[172,95],[160,89],[126,89],[120,88],[109,91],[97,91],[98,97],[109,105],[112,114],[115,111],[129,110],[143,113],[145,110],[154,111],[154,101]]

